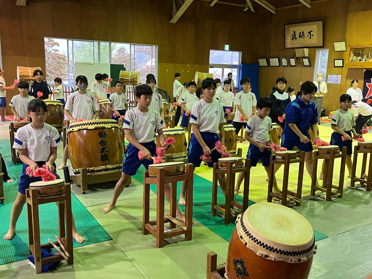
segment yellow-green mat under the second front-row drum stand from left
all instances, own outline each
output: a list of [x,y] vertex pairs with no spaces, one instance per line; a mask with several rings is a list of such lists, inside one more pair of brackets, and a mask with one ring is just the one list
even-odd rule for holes
[[[228,242],[196,221],[192,228],[192,240],[185,241],[183,235],[179,235],[166,240],[163,248],[157,248],[153,235],[142,234],[142,204],[142,198],[120,201],[108,214],[101,212],[102,205],[87,209],[145,278],[200,279],[205,277],[209,251],[218,254],[218,263],[226,260]],[[151,196],[150,219],[155,219],[155,206],[156,197]],[[169,212],[168,202],[165,212]]]

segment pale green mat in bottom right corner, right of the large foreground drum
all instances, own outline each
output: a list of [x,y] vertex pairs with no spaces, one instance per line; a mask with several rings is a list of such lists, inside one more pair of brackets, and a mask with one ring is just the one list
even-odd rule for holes
[[364,279],[372,273],[372,225],[317,242],[309,279]]

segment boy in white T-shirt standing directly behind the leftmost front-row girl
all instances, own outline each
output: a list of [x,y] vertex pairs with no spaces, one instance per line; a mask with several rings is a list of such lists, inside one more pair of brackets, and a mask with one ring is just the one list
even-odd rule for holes
[[10,110],[14,115],[14,121],[19,119],[28,119],[27,108],[29,102],[34,99],[28,94],[29,84],[27,81],[20,81],[17,85],[19,94],[13,96],[10,101]]

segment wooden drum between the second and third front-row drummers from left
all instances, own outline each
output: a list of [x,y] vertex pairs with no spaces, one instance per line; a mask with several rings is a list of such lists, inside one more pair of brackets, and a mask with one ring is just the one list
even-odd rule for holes
[[[187,156],[187,141],[185,131],[182,128],[163,129],[165,139],[173,137],[176,143],[170,145],[165,154],[170,155],[171,161],[184,161]],[[156,138],[156,146],[161,147],[159,137]]]

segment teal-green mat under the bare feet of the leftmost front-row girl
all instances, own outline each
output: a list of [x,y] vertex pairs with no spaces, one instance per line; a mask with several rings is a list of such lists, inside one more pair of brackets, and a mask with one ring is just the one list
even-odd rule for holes
[[[14,238],[12,240],[3,239],[3,235],[9,229],[10,213],[18,191],[8,191],[4,194],[6,200],[3,204],[0,204],[0,264],[24,260],[29,255],[26,205],[23,207],[22,214],[18,219]],[[77,230],[86,239],[83,244],[78,244],[74,241],[74,247],[112,239],[74,195],[71,195],[71,201]],[[41,243],[44,244],[48,243],[48,238],[54,239],[54,235],[58,235],[57,206],[55,203],[40,205],[39,215]]]

